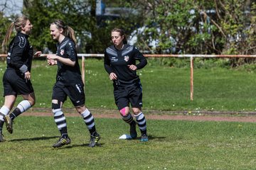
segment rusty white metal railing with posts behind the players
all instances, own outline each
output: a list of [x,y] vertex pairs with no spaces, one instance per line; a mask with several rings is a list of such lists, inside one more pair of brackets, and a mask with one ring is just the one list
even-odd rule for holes
[[[145,57],[189,57],[191,62],[191,101],[193,101],[193,58],[256,58],[256,55],[146,55]],[[7,55],[1,55],[0,57],[7,57]],[[47,54],[41,54],[39,57],[47,57]],[[82,58],[82,81],[85,84],[85,57],[104,57],[104,54],[78,54],[78,57]]]

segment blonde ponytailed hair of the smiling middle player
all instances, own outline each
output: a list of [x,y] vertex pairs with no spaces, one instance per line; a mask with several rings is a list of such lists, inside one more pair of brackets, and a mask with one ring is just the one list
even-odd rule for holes
[[53,23],[50,23],[50,25],[52,24],[54,24],[58,28],[58,30],[60,28],[63,28],[64,30],[63,35],[73,40],[75,44],[77,43],[77,40],[75,38],[75,31],[73,30],[73,28],[71,28],[70,26],[66,26],[62,20],[55,20]]

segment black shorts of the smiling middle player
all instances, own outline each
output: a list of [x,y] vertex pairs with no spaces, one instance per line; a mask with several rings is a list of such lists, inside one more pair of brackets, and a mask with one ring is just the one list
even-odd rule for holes
[[56,99],[64,103],[68,96],[74,106],[85,105],[85,92],[83,86],[82,82],[64,85],[61,81],[57,81],[53,86],[52,99]]

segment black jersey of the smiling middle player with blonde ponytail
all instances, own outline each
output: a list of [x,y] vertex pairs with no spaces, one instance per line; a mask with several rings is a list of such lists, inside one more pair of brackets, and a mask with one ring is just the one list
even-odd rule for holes
[[58,43],[57,48],[56,55],[63,58],[69,58],[75,62],[74,67],[63,64],[62,62],[57,62],[57,81],[62,81],[64,84],[72,84],[82,81],[80,66],[78,63],[78,55],[75,50],[75,42],[73,42],[73,40],[70,38],[65,37],[62,42]]

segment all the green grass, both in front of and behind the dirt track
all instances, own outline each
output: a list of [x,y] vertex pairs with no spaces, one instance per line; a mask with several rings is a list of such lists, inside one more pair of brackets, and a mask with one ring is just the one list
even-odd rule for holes
[[[6,64],[0,62],[0,79]],[[116,109],[112,83],[102,60],[85,60],[86,105]],[[35,108],[51,107],[56,67],[33,62]],[[213,67],[194,70],[194,100],[190,101],[188,67],[150,64],[142,79],[144,113],[168,111],[255,111],[254,72]],[[2,84],[0,84],[0,89]],[[18,98],[17,102],[21,98]],[[4,98],[0,99],[0,106]],[[64,108],[73,108],[67,101]],[[149,142],[119,140],[129,127],[120,119],[96,118],[101,147],[89,148],[82,118],[68,117],[72,143],[54,149],[59,132],[53,117],[20,116],[14,133],[4,128],[0,169],[255,169],[255,123],[148,120]]]

